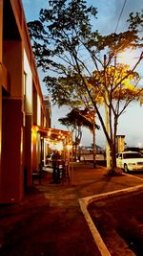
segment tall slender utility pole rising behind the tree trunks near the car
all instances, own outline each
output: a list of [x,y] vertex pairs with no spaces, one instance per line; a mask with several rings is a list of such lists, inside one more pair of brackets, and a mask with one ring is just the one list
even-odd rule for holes
[[[108,99],[108,91],[106,89],[107,80],[106,80],[106,55],[104,55],[104,75],[105,75],[105,124],[107,133],[110,134],[110,120],[109,120],[109,99]],[[108,140],[106,139],[106,165],[107,169],[111,170],[111,153],[110,153],[110,145]]]

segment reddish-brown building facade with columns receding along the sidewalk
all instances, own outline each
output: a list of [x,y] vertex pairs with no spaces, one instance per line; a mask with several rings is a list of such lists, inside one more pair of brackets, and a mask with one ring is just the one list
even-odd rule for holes
[[0,0],[0,203],[23,198],[50,126],[21,0]]

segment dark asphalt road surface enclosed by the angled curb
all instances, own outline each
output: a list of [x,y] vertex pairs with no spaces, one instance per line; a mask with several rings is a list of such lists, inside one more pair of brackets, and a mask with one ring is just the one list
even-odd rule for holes
[[93,202],[92,221],[112,256],[143,255],[143,192]]

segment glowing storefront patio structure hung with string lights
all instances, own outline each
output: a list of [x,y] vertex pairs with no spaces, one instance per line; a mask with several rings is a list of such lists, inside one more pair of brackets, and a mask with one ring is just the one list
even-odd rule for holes
[[[37,140],[39,138],[39,140]],[[37,141],[38,144],[37,144]],[[72,159],[72,133],[68,130],[56,128],[41,128],[32,126],[32,169],[36,170],[39,164],[46,164],[46,158],[52,151],[59,151],[64,161]],[[39,151],[40,158],[35,159]]]

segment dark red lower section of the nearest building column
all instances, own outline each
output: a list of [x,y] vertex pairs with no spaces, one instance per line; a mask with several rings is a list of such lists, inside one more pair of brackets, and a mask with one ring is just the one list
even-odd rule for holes
[[23,197],[22,101],[3,99],[2,174],[0,202],[19,202]]

